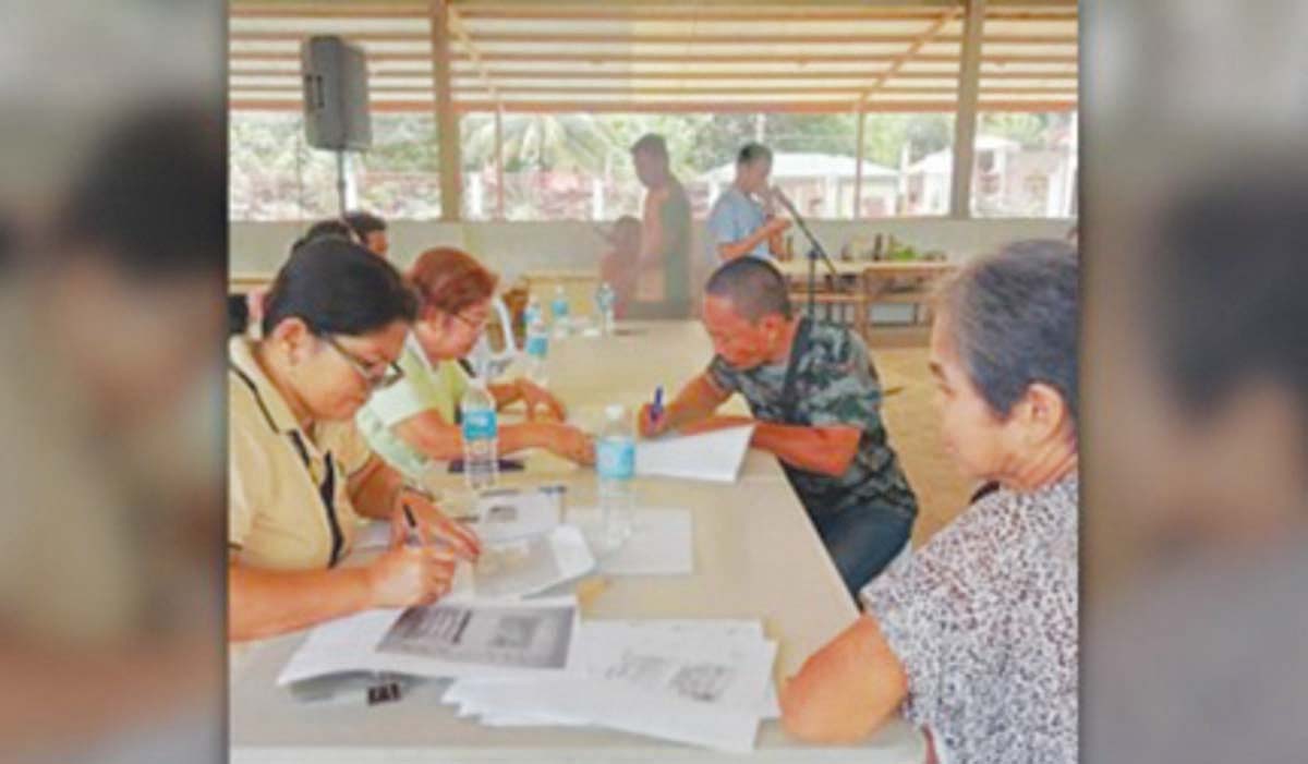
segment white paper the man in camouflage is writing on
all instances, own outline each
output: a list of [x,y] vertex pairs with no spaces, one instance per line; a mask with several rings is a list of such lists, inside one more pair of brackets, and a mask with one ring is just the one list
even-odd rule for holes
[[753,425],[693,436],[667,434],[636,443],[636,474],[710,483],[735,483],[749,450]]

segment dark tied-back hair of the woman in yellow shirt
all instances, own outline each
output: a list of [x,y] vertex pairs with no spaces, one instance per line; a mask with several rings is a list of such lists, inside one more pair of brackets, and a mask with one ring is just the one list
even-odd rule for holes
[[298,318],[318,335],[358,336],[416,317],[417,296],[399,271],[360,245],[323,237],[297,247],[277,271],[264,302],[263,334]]

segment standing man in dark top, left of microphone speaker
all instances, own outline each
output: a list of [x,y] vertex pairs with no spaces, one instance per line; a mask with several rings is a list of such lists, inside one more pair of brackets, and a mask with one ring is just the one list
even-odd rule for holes
[[647,133],[632,145],[636,177],[647,192],[641,215],[636,300],[632,318],[691,315],[691,200],[672,175],[663,136]]

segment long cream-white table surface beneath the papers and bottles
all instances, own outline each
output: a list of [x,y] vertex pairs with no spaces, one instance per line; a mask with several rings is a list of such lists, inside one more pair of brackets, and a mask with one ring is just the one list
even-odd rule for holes
[[[551,347],[551,386],[574,409],[637,404],[655,385],[668,395],[702,369],[710,345],[689,322],[623,324],[629,336],[569,338]],[[734,404],[739,407],[739,403]],[[508,483],[561,480],[569,506],[593,506],[594,472],[544,457]],[[721,485],[640,479],[644,506],[684,508],[695,523],[695,573],[679,577],[611,577],[585,619],[761,619],[780,641],[776,676],[803,659],[857,616],[831,559],[776,459],[751,451],[742,479]],[[233,761],[721,761],[738,756],[632,734],[590,729],[490,729],[459,720],[438,703],[443,683],[415,688],[402,701],[362,705],[298,704],[275,678],[303,633],[250,646],[233,662],[230,739]],[[764,722],[757,761],[925,760],[921,735],[896,720],[855,747],[807,747],[776,721]]]

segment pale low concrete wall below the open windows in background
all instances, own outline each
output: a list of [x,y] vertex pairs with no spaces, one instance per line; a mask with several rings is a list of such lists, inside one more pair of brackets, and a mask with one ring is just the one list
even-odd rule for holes
[[[964,260],[1014,239],[1062,238],[1071,225],[1073,221],[1066,218],[887,218],[814,221],[812,229],[832,256],[838,256],[845,242],[855,235],[870,246],[875,234],[886,233],[913,245],[918,251],[944,250],[951,260]],[[285,259],[290,242],[303,228],[296,222],[232,222],[232,271],[276,271]],[[390,234],[391,256],[400,267],[407,266],[426,247],[455,245],[498,271],[505,283],[532,269],[595,268],[604,246],[593,224],[579,221],[443,224],[400,220],[391,224]],[[708,258],[702,222],[696,222],[693,246],[692,252],[700,258],[702,268]],[[797,254],[799,247],[800,238],[797,234]]]

